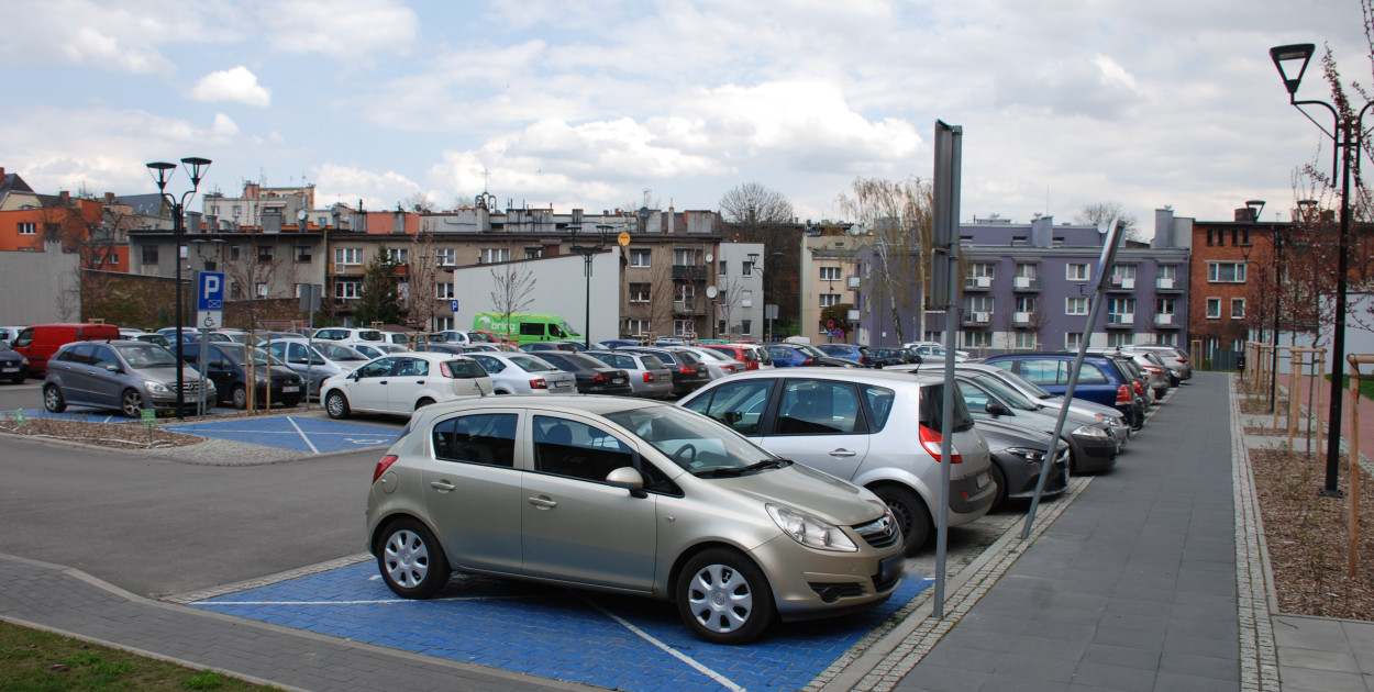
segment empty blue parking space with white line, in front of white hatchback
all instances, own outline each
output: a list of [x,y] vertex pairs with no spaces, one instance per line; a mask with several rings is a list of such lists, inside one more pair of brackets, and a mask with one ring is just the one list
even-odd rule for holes
[[250,445],[291,449],[311,454],[387,446],[396,441],[396,435],[398,434],[398,431],[390,428],[297,416],[264,416],[212,423],[187,423],[184,426],[166,426],[164,430],[217,439],[232,439]]

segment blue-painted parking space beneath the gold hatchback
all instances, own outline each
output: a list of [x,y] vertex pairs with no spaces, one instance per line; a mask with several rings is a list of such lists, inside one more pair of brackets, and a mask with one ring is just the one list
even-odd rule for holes
[[775,625],[743,647],[695,638],[671,603],[455,575],[433,600],[400,599],[375,562],[192,607],[530,676],[643,692],[800,689],[932,584],[908,575],[855,615]]

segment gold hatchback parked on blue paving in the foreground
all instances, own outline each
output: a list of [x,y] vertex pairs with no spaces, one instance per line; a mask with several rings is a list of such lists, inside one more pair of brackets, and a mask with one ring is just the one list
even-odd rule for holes
[[699,637],[882,603],[903,538],[871,492],[671,404],[492,397],[415,412],[376,464],[367,548],[398,596],[452,571],[671,600]]

